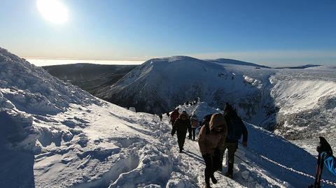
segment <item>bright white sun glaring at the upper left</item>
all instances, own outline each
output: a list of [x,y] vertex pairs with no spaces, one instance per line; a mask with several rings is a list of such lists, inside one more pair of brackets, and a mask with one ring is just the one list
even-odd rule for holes
[[62,24],[68,20],[68,9],[59,0],[37,0],[36,5],[41,15],[49,22]]

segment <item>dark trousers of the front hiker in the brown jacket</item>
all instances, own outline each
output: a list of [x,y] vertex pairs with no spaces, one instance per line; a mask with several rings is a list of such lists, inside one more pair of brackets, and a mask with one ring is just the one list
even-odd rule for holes
[[220,166],[221,152],[216,150],[214,156],[211,156],[210,154],[204,154],[202,157],[205,163],[205,183],[210,185],[210,178],[214,178],[214,172],[216,172]]

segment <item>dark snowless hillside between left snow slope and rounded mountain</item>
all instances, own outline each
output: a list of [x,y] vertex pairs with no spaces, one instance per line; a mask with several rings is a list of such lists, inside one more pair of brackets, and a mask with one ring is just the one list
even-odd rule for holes
[[71,82],[90,94],[96,94],[99,89],[113,85],[123,78],[136,65],[100,65],[100,64],[64,64],[43,66],[51,75]]

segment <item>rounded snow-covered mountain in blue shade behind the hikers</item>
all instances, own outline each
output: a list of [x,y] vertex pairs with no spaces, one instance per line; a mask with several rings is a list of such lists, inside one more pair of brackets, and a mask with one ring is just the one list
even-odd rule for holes
[[260,123],[267,116],[262,101],[270,99],[263,88],[258,80],[232,73],[220,64],[179,56],[148,60],[98,96],[150,113],[167,112],[197,97],[220,108],[230,101],[246,120]]

